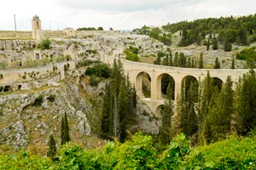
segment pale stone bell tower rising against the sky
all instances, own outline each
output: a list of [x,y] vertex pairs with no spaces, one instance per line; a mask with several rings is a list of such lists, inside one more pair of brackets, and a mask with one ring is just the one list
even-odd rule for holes
[[38,15],[33,16],[32,19],[32,38],[41,40],[44,37],[44,31],[41,28],[41,20]]

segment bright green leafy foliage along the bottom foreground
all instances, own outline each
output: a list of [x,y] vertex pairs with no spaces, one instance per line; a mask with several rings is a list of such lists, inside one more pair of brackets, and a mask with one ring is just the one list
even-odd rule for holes
[[96,150],[67,144],[53,161],[24,150],[0,155],[0,169],[255,169],[255,162],[255,136],[232,136],[191,149],[183,133],[163,152],[154,148],[151,136],[137,133],[124,144],[108,142]]

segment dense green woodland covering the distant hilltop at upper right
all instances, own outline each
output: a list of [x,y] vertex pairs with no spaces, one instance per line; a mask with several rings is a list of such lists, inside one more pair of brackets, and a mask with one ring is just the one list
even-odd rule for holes
[[[182,21],[175,24],[168,23],[163,29],[172,33],[182,31],[180,46],[188,46],[194,42],[201,44],[201,40],[209,35],[209,40],[218,37],[218,42],[226,44],[230,51],[230,43],[247,45],[256,41],[254,28],[256,26],[256,14],[235,19],[233,16],[200,19],[194,21]],[[218,36],[217,36],[218,35]],[[215,41],[215,40],[214,40]],[[214,42],[213,41],[213,42]],[[216,42],[214,42],[216,43]],[[216,46],[214,47],[216,48]],[[228,50],[229,49],[229,50]]]

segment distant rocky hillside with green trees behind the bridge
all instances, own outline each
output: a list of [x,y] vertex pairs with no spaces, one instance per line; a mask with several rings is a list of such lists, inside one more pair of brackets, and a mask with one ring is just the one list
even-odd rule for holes
[[[255,15],[231,16],[168,23],[160,28],[143,26],[133,32],[163,42],[172,49],[172,55],[178,52],[199,60],[202,52],[206,68],[213,67],[216,58],[221,61],[221,68],[230,68],[232,59],[241,49],[255,47],[255,23]],[[236,58],[236,68],[247,68],[246,60]]]

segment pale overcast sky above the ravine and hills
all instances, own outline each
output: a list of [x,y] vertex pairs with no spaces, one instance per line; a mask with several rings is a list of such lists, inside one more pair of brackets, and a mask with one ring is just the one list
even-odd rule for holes
[[131,30],[167,22],[255,14],[256,0],[7,0],[1,2],[0,30],[30,31],[38,14],[44,30],[98,27]]

